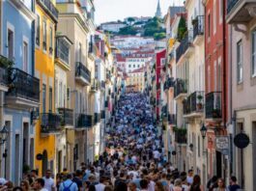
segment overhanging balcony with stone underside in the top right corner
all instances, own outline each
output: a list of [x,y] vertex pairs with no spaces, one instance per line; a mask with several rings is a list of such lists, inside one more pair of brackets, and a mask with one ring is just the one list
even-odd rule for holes
[[227,23],[248,23],[256,14],[255,0],[228,0]]

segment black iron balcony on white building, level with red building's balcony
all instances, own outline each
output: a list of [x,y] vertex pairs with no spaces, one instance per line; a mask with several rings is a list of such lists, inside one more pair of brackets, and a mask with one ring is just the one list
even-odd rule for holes
[[204,111],[204,92],[194,92],[184,100],[186,117],[199,117]]

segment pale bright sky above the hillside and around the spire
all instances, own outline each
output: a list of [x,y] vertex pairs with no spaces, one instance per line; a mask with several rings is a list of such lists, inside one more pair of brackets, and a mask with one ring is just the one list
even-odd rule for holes
[[[160,0],[162,14],[168,7],[183,5],[185,0]],[[156,14],[157,0],[95,0],[96,24],[102,22],[123,20],[128,16],[153,16]]]

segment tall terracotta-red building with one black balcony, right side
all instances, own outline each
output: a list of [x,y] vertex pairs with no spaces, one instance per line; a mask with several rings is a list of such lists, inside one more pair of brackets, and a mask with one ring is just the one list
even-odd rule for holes
[[228,119],[228,27],[226,1],[205,1],[205,80],[208,176],[227,177],[225,157],[215,150],[216,136],[226,135]]

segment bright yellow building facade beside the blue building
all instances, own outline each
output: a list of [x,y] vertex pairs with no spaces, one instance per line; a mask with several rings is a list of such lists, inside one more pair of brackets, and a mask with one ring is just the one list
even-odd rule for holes
[[[40,119],[36,123],[35,133],[35,168],[39,176],[44,176],[47,169],[55,169],[55,133],[59,130],[59,121],[55,112],[54,100],[54,50],[55,26],[58,12],[55,1],[36,4],[36,47],[35,75],[40,79]],[[52,6],[53,5],[53,6]]]

